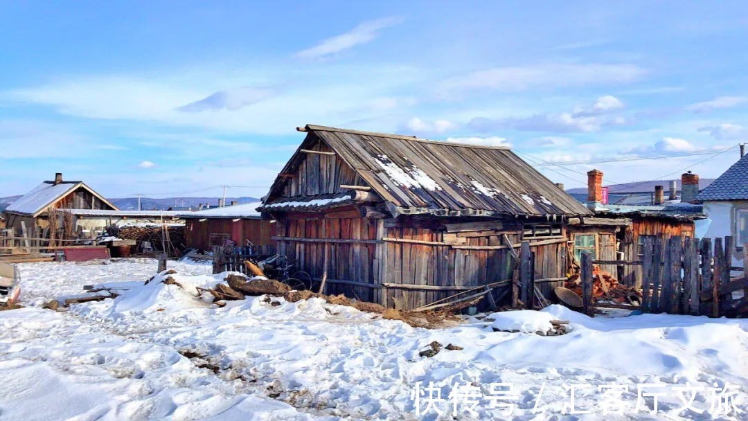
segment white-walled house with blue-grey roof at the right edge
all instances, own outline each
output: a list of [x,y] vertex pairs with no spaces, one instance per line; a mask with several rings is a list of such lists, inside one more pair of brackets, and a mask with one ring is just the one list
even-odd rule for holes
[[743,245],[748,243],[748,156],[735,162],[696,199],[711,219],[706,237],[732,236],[736,245],[733,266],[741,266]]

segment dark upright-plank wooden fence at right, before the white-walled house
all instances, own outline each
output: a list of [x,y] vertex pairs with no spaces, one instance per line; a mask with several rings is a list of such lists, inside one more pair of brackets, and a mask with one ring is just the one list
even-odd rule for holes
[[[620,265],[642,265],[644,313],[669,313],[693,316],[735,317],[748,313],[748,278],[745,268],[732,266],[735,242],[724,239],[691,239],[672,236],[646,239],[640,262],[616,261]],[[748,254],[748,245],[743,248]],[[582,259],[582,285],[589,286],[589,297],[583,297],[585,312],[592,310],[592,264],[587,253]],[[744,265],[748,259],[744,256]],[[743,271],[732,279],[731,271]]]

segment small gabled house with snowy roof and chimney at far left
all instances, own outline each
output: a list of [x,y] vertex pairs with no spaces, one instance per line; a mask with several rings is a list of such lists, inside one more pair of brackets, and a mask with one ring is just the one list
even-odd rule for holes
[[[26,230],[49,228],[50,209],[107,209],[118,210],[82,181],[64,181],[61,173],[52,181],[42,182],[36,188],[10,203],[4,210],[7,228],[16,234]],[[31,235],[31,233],[28,233]],[[44,235],[49,236],[49,233]]]

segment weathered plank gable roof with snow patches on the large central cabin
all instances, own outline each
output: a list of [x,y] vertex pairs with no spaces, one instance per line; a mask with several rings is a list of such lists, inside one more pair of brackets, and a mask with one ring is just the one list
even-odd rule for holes
[[[485,147],[307,125],[309,133],[281,173],[323,141],[376,194],[401,213],[432,215],[591,215],[508,147]],[[265,206],[287,182],[278,176]],[[264,209],[264,208],[263,208]]]

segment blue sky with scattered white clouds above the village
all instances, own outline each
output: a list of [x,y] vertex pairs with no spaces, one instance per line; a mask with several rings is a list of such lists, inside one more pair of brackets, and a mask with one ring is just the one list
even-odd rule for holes
[[[63,172],[108,197],[258,197],[306,123],[546,162],[748,141],[745,1],[245,3],[2,2],[0,195]],[[541,169],[572,187],[736,159]]]

